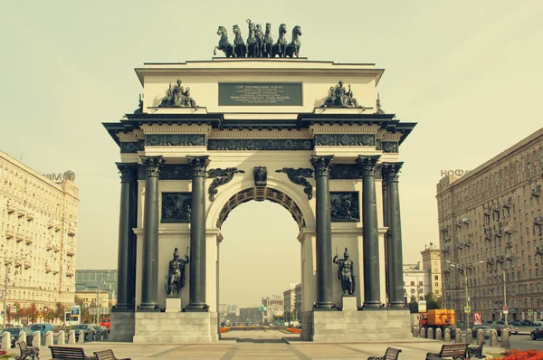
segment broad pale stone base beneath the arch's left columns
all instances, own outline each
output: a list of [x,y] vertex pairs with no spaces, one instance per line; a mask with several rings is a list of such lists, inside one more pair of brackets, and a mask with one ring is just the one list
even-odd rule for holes
[[135,315],[134,344],[205,344],[219,341],[215,312],[137,312]]

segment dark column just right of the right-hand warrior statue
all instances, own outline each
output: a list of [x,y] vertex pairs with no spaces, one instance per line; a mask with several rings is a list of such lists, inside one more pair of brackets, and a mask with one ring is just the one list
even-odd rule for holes
[[362,227],[364,229],[364,309],[383,309],[380,299],[379,232],[377,223],[376,165],[379,156],[358,156],[363,174]]

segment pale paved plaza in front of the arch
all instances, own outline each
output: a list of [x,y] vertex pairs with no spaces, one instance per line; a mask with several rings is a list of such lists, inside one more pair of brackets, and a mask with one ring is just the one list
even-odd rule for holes
[[[285,341],[286,340],[286,341]],[[204,345],[152,345],[130,343],[86,343],[82,347],[87,355],[93,351],[112,349],[115,355],[138,359],[367,359],[368,356],[382,356],[386,347],[402,349],[400,359],[424,359],[428,352],[438,352],[443,342],[412,339],[397,343],[369,344],[314,344],[301,342],[296,336],[280,331],[233,331],[218,343]],[[81,345],[75,345],[77,347]],[[485,354],[503,352],[499,347],[485,346]],[[42,348],[40,359],[51,359],[48,348]]]

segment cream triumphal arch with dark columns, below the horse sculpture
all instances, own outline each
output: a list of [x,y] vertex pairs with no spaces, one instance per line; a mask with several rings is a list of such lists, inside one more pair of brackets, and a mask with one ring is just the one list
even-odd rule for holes
[[[300,228],[303,339],[409,337],[398,174],[415,124],[381,108],[383,72],[295,56],[136,69],[138,109],[104,123],[120,149],[112,335],[218,340],[221,227],[239,204],[268,200]],[[352,261],[347,287],[336,249]]]

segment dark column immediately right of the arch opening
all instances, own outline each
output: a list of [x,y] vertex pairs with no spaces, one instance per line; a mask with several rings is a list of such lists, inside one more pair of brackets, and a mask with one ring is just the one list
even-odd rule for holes
[[317,304],[318,310],[336,310],[332,288],[332,227],[329,175],[334,156],[311,156],[317,181]]

